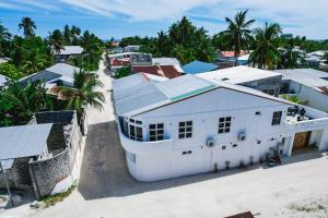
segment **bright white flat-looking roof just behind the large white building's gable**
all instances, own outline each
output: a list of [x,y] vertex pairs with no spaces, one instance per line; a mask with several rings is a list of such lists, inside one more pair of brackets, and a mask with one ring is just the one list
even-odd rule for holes
[[224,81],[231,84],[243,84],[269,77],[281,76],[278,72],[265,71],[245,65],[199,73],[197,76],[209,80],[213,83]]

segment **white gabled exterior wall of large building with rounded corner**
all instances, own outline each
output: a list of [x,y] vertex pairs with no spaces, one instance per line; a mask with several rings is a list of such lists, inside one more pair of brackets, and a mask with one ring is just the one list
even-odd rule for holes
[[[224,100],[220,100],[224,99]],[[201,104],[200,104],[201,102]],[[153,111],[134,117],[143,122],[143,137],[148,141],[148,126],[164,123],[165,138],[160,142],[137,142],[120,132],[127,150],[130,173],[140,181],[154,181],[186,174],[208,172],[226,167],[237,167],[265,158],[270,147],[276,147],[285,133],[286,110],[290,106],[248,94],[216,89]],[[260,116],[255,114],[260,111]],[[280,125],[271,125],[274,111],[283,111]],[[231,132],[218,134],[219,118],[232,117]],[[178,122],[192,121],[192,137],[178,140]],[[120,130],[119,130],[120,131]],[[237,135],[246,132],[246,141]],[[207,147],[207,138],[214,138],[214,147]],[[260,141],[260,144],[257,142]],[[233,145],[237,146],[233,146]],[[222,149],[225,146],[225,149]],[[183,152],[191,152],[183,155]],[[130,158],[134,155],[134,159]]]

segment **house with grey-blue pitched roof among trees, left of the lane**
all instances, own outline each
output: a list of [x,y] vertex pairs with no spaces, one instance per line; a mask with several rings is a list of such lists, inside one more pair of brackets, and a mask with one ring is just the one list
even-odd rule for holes
[[43,81],[46,83],[47,88],[54,86],[67,86],[72,87],[74,84],[74,72],[79,72],[80,69],[67,63],[56,63],[50,68],[47,68],[38,73],[34,73],[22,77],[20,83],[26,85],[32,81]]

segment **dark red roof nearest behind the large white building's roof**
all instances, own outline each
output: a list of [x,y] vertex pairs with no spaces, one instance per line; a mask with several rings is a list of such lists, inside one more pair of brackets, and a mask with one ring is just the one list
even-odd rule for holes
[[132,72],[142,72],[167,78],[174,78],[181,75],[180,72],[178,72],[174,65],[139,65],[132,66]]

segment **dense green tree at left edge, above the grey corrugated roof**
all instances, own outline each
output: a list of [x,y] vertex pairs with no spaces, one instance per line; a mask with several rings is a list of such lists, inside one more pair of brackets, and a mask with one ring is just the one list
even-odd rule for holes
[[26,86],[11,82],[0,90],[0,125],[26,124],[35,112],[50,109],[47,102],[47,90],[40,81]]

